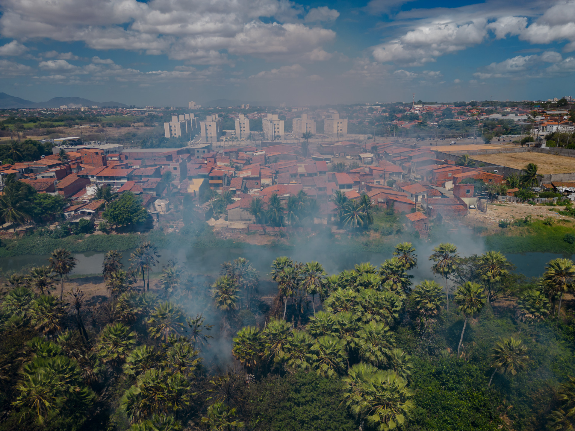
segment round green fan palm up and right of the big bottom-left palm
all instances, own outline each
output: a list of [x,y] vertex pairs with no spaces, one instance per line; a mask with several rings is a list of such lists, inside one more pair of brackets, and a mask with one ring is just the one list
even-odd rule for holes
[[136,344],[136,333],[122,323],[106,325],[98,337],[98,356],[102,361],[118,367]]

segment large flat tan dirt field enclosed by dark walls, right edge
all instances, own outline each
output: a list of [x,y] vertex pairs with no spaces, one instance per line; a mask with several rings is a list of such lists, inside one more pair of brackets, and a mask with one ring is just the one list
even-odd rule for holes
[[573,157],[554,156],[543,153],[510,153],[488,154],[471,156],[474,160],[480,160],[495,166],[508,166],[515,169],[523,169],[527,163],[535,163],[539,174],[563,174],[575,172],[575,159]]

